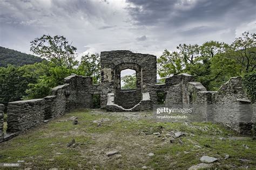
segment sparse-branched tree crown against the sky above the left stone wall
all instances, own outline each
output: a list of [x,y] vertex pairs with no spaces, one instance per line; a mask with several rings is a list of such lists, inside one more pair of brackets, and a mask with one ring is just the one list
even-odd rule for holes
[[78,64],[78,61],[75,60],[77,48],[72,46],[72,43],[69,44],[63,36],[43,35],[30,43],[30,51],[55,63],[56,66],[72,69]]

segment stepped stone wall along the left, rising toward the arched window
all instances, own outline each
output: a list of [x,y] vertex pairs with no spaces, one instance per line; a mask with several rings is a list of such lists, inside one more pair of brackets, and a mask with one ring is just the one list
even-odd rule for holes
[[[47,119],[64,115],[77,108],[91,108],[92,95],[98,93],[98,85],[91,77],[72,74],[63,85],[52,89],[51,95],[35,100],[8,103],[8,129],[10,133],[21,133],[41,125]],[[4,107],[3,107],[4,109]],[[0,134],[2,134],[2,105],[0,105]]]

